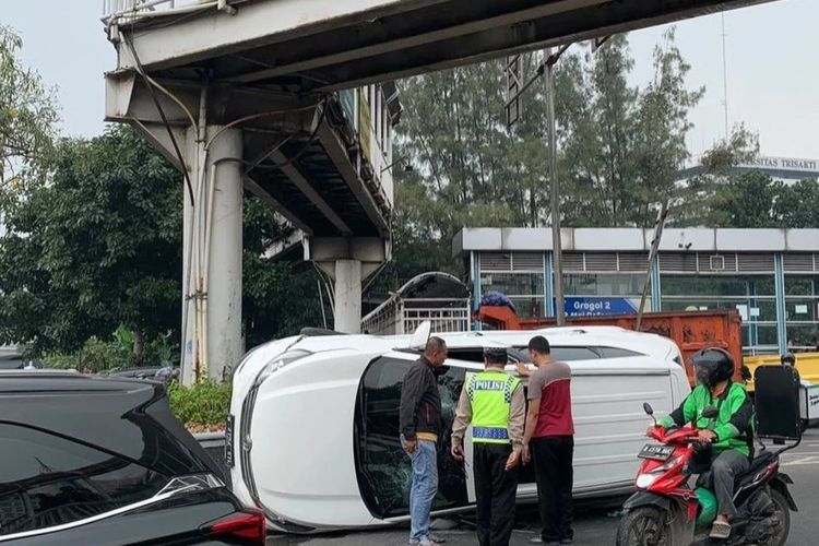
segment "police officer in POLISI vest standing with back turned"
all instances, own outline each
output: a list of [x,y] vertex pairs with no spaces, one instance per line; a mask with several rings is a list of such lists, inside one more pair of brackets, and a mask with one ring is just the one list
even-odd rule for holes
[[463,461],[463,436],[472,423],[480,546],[508,546],[514,523],[526,402],[521,381],[503,370],[506,364],[506,348],[484,349],[485,369],[464,383],[452,425],[452,456]]

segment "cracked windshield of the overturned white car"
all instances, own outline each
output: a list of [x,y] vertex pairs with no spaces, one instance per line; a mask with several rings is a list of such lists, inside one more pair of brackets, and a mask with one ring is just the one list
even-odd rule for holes
[[[361,498],[377,518],[410,513],[412,467],[400,441],[401,385],[412,361],[379,358],[365,371],[358,390],[355,417],[356,474]],[[467,503],[463,466],[449,456],[449,439],[465,370],[448,367],[438,378],[442,430],[438,447],[438,496],[435,509]]]

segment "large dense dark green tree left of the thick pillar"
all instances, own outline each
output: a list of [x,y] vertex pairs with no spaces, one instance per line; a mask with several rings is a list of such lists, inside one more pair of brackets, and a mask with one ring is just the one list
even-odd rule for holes
[[178,330],[181,177],[130,129],[61,141],[0,240],[0,340],[74,351]]

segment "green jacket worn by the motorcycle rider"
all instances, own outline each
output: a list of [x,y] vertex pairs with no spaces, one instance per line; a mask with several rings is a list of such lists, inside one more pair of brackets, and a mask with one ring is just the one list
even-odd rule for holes
[[[713,419],[702,417],[702,412],[708,406],[715,406],[720,410],[720,415]],[[709,388],[697,385],[678,408],[660,420],[660,425],[681,427],[695,418],[698,428],[708,428],[716,434],[716,441],[713,444],[715,453],[734,449],[750,456],[753,446],[753,404],[745,387],[732,381],[725,392],[714,399]]]

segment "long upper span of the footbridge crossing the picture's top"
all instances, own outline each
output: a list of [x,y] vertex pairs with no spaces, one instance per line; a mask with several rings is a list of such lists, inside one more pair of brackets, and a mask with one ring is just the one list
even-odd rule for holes
[[[235,1],[237,13],[138,23],[143,64],[178,78],[207,67],[232,84],[330,91],[621,33],[770,0]],[[182,15],[180,15],[182,16]],[[198,29],[206,29],[198,33]],[[198,39],[194,39],[198,37]],[[157,39],[159,38],[159,39]],[[162,46],[158,46],[162,44]],[[120,57],[120,68],[132,63]]]

